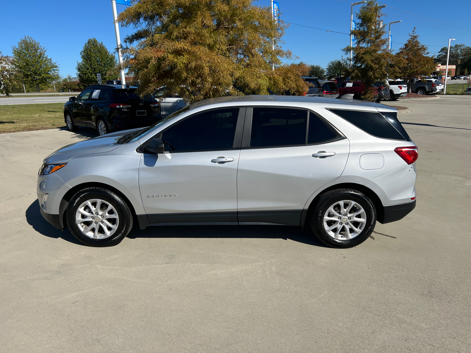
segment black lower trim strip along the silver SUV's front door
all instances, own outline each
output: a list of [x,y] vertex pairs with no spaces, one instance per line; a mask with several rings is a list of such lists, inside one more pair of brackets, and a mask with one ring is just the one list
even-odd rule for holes
[[237,224],[237,212],[161,213],[147,215],[151,225]]

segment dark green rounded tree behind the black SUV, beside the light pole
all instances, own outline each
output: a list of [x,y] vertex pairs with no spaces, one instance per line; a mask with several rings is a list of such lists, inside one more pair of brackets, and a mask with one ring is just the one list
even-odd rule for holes
[[96,38],[89,38],[80,52],[81,62],[77,62],[77,72],[82,87],[96,84],[97,73],[101,73],[101,79],[112,80],[114,75],[111,70],[116,66],[114,54],[106,49],[103,42]]

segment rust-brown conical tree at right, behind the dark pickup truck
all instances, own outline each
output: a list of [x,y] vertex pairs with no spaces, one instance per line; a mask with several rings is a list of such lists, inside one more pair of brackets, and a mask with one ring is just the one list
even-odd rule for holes
[[409,33],[409,39],[395,54],[395,56],[403,59],[398,69],[402,77],[408,81],[407,88],[409,93],[412,92],[414,78],[420,75],[429,76],[435,69],[433,57],[428,55],[428,48],[419,41],[419,36],[415,33],[414,27],[412,33]]

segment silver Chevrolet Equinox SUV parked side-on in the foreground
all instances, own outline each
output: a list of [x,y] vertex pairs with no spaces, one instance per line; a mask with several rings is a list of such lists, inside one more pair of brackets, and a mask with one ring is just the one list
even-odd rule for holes
[[57,150],[37,191],[43,217],[90,246],[138,223],[297,225],[348,248],[414,209],[417,156],[382,104],[221,97]]

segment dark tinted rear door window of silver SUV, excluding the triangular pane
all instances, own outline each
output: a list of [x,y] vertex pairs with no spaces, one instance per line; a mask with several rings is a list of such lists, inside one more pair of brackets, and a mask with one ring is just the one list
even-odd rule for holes
[[253,108],[250,146],[305,144],[307,118],[300,109]]

